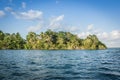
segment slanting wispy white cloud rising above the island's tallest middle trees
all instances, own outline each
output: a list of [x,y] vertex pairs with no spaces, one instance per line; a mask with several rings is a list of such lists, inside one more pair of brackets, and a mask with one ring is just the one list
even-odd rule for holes
[[49,24],[49,27],[51,29],[57,29],[57,28],[60,28],[61,27],[61,21],[64,19],[64,15],[60,15],[58,17],[54,17],[52,19],[50,19],[50,24]]

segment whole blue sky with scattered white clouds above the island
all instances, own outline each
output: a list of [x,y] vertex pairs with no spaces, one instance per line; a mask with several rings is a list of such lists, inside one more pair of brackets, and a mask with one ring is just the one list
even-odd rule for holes
[[0,0],[3,32],[25,38],[48,29],[95,34],[107,47],[120,47],[120,0]]

